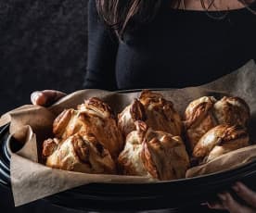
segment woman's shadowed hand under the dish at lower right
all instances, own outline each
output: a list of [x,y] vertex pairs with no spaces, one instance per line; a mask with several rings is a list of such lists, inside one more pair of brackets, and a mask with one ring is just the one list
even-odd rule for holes
[[244,204],[239,204],[231,194],[223,193],[218,194],[220,203],[209,203],[208,206],[214,209],[225,209],[230,213],[256,213],[256,193],[241,182],[237,182],[232,188],[245,201]]

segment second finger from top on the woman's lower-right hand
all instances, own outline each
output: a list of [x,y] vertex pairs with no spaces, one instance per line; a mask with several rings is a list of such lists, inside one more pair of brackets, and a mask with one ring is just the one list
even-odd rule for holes
[[218,194],[218,196],[219,196],[224,208],[227,209],[230,213],[253,213],[253,212],[255,212],[252,208],[245,207],[245,206],[237,203],[237,201],[229,193]]

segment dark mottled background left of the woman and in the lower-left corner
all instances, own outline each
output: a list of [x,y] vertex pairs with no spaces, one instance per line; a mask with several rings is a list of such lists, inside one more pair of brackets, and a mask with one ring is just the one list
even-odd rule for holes
[[[0,114],[30,104],[32,91],[83,88],[87,1],[0,0]],[[14,208],[10,192],[0,187],[0,212],[70,210],[44,200]]]

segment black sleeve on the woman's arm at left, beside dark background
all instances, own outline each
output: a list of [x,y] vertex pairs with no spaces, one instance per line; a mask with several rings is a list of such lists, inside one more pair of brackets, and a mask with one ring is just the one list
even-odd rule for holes
[[115,90],[116,35],[99,19],[96,1],[88,3],[88,59],[84,87]]

